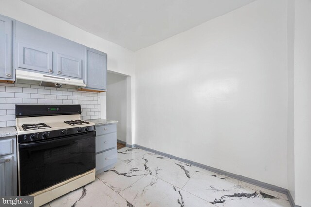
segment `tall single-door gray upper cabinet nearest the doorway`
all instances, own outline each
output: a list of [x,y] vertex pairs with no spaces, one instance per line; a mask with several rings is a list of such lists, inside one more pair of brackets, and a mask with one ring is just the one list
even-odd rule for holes
[[85,48],[86,88],[107,90],[107,54],[92,48]]

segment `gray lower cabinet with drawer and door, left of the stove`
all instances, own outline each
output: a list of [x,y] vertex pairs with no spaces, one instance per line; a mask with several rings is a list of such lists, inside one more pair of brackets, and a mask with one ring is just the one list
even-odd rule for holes
[[16,137],[0,138],[0,196],[17,195]]

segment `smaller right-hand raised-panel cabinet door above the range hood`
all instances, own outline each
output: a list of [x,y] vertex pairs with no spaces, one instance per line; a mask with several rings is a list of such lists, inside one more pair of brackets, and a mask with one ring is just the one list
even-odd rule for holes
[[82,78],[82,60],[57,53],[57,74]]

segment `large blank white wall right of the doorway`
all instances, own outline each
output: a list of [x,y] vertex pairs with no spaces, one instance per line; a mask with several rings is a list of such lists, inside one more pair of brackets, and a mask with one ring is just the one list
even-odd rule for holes
[[135,143],[287,188],[286,37],[258,0],[136,52]]

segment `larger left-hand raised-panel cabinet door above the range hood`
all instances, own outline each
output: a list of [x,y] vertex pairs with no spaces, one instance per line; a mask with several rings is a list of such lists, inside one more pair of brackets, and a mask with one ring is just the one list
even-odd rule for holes
[[52,73],[52,51],[18,42],[18,67]]

